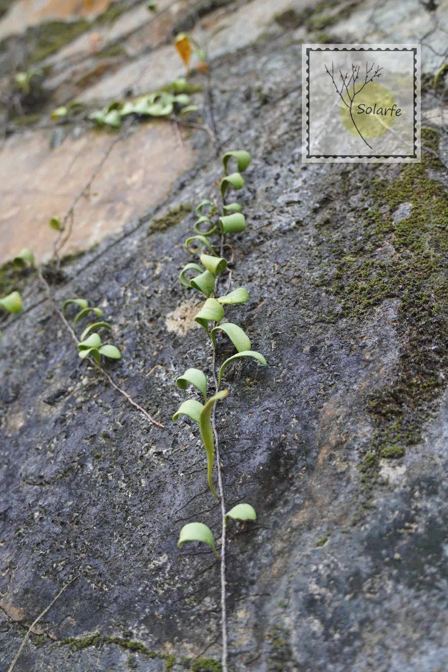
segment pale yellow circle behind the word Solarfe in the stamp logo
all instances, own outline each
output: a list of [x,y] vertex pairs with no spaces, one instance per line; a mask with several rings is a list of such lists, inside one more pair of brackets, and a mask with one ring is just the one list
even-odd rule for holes
[[354,91],[349,87],[339,110],[345,128],[363,138],[384,135],[393,126],[397,114],[401,114],[389,89],[376,82],[367,83],[361,90],[359,85]]

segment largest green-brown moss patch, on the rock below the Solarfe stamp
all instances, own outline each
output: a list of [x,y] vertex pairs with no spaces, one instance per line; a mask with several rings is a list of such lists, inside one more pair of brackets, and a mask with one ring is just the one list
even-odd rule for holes
[[371,206],[359,224],[360,235],[351,235],[355,245],[337,241],[330,227],[320,224],[335,263],[332,278],[321,284],[340,306],[328,321],[335,315],[362,319],[387,298],[398,306],[394,327],[400,358],[394,380],[366,398],[374,429],[360,465],[365,483],[375,480],[379,458],[400,458],[406,446],[420,440],[432,403],[445,387],[448,194],[437,179],[443,175],[438,151],[438,132],[422,129],[421,164],[400,165],[392,180],[366,179]]

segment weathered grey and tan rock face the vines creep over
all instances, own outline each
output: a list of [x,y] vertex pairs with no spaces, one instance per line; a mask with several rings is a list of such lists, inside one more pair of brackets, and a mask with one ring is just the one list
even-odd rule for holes
[[[206,36],[228,26],[227,42],[220,32],[210,48],[210,81],[197,73],[191,82],[210,83],[210,96],[195,102],[214,119],[220,148],[253,156],[232,274],[250,299],[226,317],[268,362],[229,369],[217,413],[228,508],[248,501],[258,514],[257,524],[229,528],[230,669],[442,671],[447,139],[443,71],[437,87],[433,76],[446,3],[160,4],[146,28],[126,19],[142,5],[123,6],[114,26],[124,53],[100,59],[102,71],[86,54],[83,89],[87,99],[97,86],[105,105],[124,93],[120,71],[126,89],[126,69],[156,64],[173,31],[199,32],[198,20]],[[118,30],[126,20],[129,33]],[[135,38],[151,26],[161,35],[153,50]],[[421,165],[300,164],[305,40],[422,40]],[[3,64],[18,48],[13,38],[5,45]],[[21,48],[29,58],[30,45]],[[70,54],[52,58],[66,69],[66,90],[81,90]],[[160,85],[155,67],[147,90]],[[2,213],[5,260],[34,239],[48,256],[46,220],[69,207],[94,169],[89,153],[101,158],[97,146],[114,137],[79,118],[48,128],[61,100],[58,88],[45,89],[47,77],[42,118],[26,134],[5,119],[1,188],[9,179],[14,211]],[[85,296],[103,308],[123,353],[105,369],[164,429],[81,363],[31,271],[1,269],[1,294],[20,288],[26,302],[1,325],[2,669],[73,578],[34,626],[17,672],[220,669],[219,564],[202,548],[176,546],[188,521],[218,538],[219,505],[197,430],[171,415],[185,398],[176,376],[189,366],[210,374],[210,347],[192,319],[201,300],[177,276],[189,261],[191,208],[216,194],[222,168],[206,133],[181,131],[182,139],[162,120],[123,135],[75,208],[64,252],[78,254],[63,260],[52,288],[59,304]],[[26,146],[37,148],[36,161],[24,159]],[[44,185],[50,165],[60,193]],[[220,342],[219,360],[231,352]]]

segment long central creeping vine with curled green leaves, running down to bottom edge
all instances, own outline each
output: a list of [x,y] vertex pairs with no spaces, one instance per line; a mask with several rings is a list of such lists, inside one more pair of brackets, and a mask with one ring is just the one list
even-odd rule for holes
[[[239,359],[244,360],[245,358],[253,358],[263,366],[266,365],[266,360],[263,355],[252,349],[251,340],[247,334],[244,333],[243,329],[232,322],[223,321],[224,306],[245,303],[249,299],[249,294],[243,287],[236,288],[232,292],[228,291],[230,289],[231,280],[230,271],[228,269],[229,262],[222,255],[224,253],[224,247],[230,247],[224,245],[226,235],[240,233],[244,231],[246,226],[246,220],[244,214],[241,212],[242,208],[240,204],[238,202],[227,203],[226,195],[228,190],[239,190],[244,185],[244,179],[242,178],[241,173],[247,168],[250,161],[251,156],[244,150],[229,151],[222,157],[224,177],[222,177],[220,181],[220,208],[218,208],[218,205],[215,202],[211,202],[210,200],[202,200],[197,205],[195,210],[197,220],[193,225],[194,235],[185,241],[185,247],[189,253],[199,257],[200,263],[197,263],[197,261],[187,263],[179,276],[179,280],[183,286],[192,288],[206,296],[204,305],[195,315],[194,319],[206,332],[206,336],[210,339],[210,345],[212,346],[213,352],[212,377],[214,380],[214,394],[208,396],[208,381],[206,374],[204,374],[203,371],[197,368],[187,369],[182,376],[177,378],[177,386],[181,388],[181,390],[185,390],[188,386],[192,386],[199,393],[201,401],[197,401],[195,398],[190,398],[187,401],[184,401],[173,415],[173,420],[177,421],[181,415],[185,415],[199,425],[199,432],[207,457],[208,485],[212,495],[220,499],[222,513],[220,548],[222,669],[224,672],[227,669],[225,577],[226,525],[228,519],[238,521],[255,520],[257,514],[255,513],[255,509],[247,503],[238,504],[230,509],[230,511],[226,512],[218,448],[218,433],[216,431],[215,423],[215,404],[228,395],[228,390],[220,390],[220,387],[230,364],[233,364]],[[229,170],[232,163],[236,163],[236,171],[234,172],[230,172]],[[213,241],[214,236],[218,238],[219,253],[214,247],[214,244],[216,245]],[[225,282],[226,290],[221,295],[219,291],[220,280],[224,274],[227,274]],[[218,370],[216,366],[216,342],[218,337],[221,337],[222,335],[226,336],[234,345],[236,353],[224,360]],[[215,452],[218,464],[219,494],[216,492],[213,483]],[[178,546],[181,547],[185,542],[201,542],[208,544],[214,554],[218,556],[212,530],[204,525],[204,523],[194,522],[183,526],[179,535]]]

